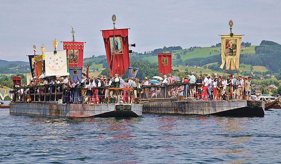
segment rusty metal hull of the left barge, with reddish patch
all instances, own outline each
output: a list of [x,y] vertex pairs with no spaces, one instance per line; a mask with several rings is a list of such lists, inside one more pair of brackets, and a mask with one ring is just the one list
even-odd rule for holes
[[10,103],[10,113],[46,117],[141,117],[139,104]]

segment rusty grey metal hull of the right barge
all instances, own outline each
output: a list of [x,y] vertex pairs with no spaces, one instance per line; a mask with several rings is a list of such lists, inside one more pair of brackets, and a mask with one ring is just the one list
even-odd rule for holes
[[226,117],[264,117],[264,102],[254,100],[176,101],[176,99],[147,99],[143,105],[142,112]]

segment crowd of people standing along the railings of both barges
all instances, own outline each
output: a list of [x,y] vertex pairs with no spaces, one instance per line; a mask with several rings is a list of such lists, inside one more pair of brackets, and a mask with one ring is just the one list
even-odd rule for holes
[[[233,100],[233,99],[250,99],[250,83],[251,77],[234,75],[224,77],[214,77],[211,75],[195,76],[194,72],[182,78],[181,81],[176,81],[174,76],[168,74],[163,76],[163,80],[158,80],[157,83],[150,83],[147,77],[139,81],[138,78],[131,77],[124,81],[121,76],[115,74],[106,78],[101,77],[86,77],[82,75],[81,80],[73,80],[64,77],[53,77],[51,79],[44,78],[37,80],[36,77],[30,79],[29,86],[41,84],[40,87],[27,89],[19,89],[17,92],[21,96],[18,99],[23,101],[56,101],[62,99],[67,103],[86,103],[86,104],[103,104],[103,103],[136,103],[140,102],[140,98],[171,98],[177,96],[190,97],[202,100]],[[175,82],[185,83],[184,85],[169,85]],[[58,86],[49,86],[48,84],[62,84]],[[45,87],[48,85],[49,87]],[[152,87],[145,87],[155,85]],[[163,87],[158,86],[165,86]],[[23,84],[24,86],[24,84]],[[14,88],[18,87],[17,84]],[[134,88],[139,89],[134,89]],[[144,87],[144,89],[140,89]],[[68,88],[68,89],[66,89]],[[110,89],[106,89],[110,88]],[[119,89],[120,88],[120,89]],[[54,93],[58,93],[57,95]],[[41,93],[42,95],[35,95]],[[44,93],[51,93],[47,94]],[[28,96],[22,96],[30,95]]]

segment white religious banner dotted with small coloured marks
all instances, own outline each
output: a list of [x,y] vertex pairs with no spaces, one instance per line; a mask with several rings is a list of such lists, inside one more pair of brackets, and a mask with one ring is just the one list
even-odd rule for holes
[[67,58],[65,50],[45,51],[46,76],[58,76],[67,72]]

